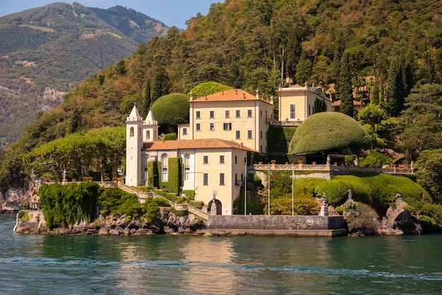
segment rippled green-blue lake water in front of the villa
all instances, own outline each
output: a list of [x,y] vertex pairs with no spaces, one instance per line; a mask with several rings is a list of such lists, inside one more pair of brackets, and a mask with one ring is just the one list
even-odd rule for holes
[[442,294],[442,235],[42,236],[0,215],[0,294]]

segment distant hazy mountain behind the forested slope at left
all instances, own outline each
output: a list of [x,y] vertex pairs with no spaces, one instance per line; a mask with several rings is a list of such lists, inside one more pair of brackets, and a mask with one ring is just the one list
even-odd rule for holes
[[0,142],[52,109],[84,78],[130,56],[169,28],[114,6],[54,3],[0,18]]

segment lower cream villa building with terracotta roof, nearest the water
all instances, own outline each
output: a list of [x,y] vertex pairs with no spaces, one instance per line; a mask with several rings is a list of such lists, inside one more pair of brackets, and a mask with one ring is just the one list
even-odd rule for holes
[[[167,159],[179,157],[183,166],[182,190],[195,191],[195,200],[210,204],[215,195],[219,215],[232,215],[234,200],[245,180],[247,152],[237,143],[220,139],[172,140],[144,145],[143,157],[167,167]],[[147,171],[147,169],[141,169]],[[162,169],[161,181],[167,180]],[[147,178],[148,176],[146,176]]]

